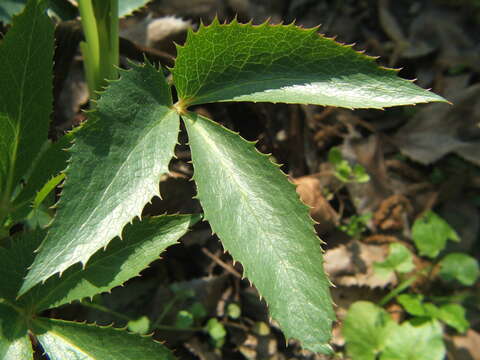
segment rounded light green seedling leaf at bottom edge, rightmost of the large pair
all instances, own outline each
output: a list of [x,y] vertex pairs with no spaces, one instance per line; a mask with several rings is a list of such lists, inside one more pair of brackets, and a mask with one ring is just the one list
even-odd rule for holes
[[436,321],[413,326],[405,321],[387,338],[380,360],[442,360],[445,356],[442,327]]

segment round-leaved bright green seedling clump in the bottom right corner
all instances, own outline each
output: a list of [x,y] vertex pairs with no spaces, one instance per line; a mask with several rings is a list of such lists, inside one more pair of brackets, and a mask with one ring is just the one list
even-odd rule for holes
[[[399,243],[390,245],[390,254],[385,261],[374,264],[375,272],[380,276],[395,273],[402,280],[379,305],[396,299],[409,318],[397,324],[381,307],[366,301],[355,302],[348,310],[343,328],[347,353],[352,359],[442,360],[446,350],[440,324],[444,323],[460,333],[470,327],[466,309],[461,304],[462,297],[455,294],[439,297],[435,294],[401,293],[408,290],[419,276],[429,278],[436,266],[440,268],[439,278],[446,283],[471,286],[479,276],[477,260],[463,253],[439,258],[447,239],[460,239],[455,230],[432,211],[416,220],[412,236],[420,255],[432,258],[434,264],[413,272],[413,255]],[[434,280],[438,279],[429,279]]]

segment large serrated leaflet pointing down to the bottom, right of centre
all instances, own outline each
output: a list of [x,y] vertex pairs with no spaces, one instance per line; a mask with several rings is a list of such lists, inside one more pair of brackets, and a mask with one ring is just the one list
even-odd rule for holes
[[330,284],[313,220],[295,186],[253,143],[196,114],[183,119],[205,219],[243,264],[286,337],[328,351]]

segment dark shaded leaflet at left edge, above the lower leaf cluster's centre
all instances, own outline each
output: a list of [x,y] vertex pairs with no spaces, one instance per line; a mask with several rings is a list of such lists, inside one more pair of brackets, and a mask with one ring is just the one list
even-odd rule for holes
[[14,302],[28,266],[32,263],[45,231],[32,231],[14,236],[9,247],[0,247],[0,299]]

